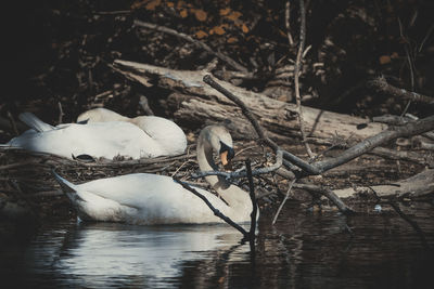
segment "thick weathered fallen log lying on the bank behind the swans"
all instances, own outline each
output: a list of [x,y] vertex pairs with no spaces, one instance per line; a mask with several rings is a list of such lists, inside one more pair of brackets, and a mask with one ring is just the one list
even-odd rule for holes
[[[175,70],[148,64],[115,61],[116,71],[129,79],[149,86],[149,78],[157,80],[157,86],[175,91],[169,101],[176,106],[175,118],[180,123],[221,122],[230,119],[234,137],[252,140],[255,132],[242,116],[241,109],[221,93],[203,82],[207,71]],[[259,123],[268,130],[269,136],[277,141],[293,142],[299,139],[297,107],[280,102],[260,93],[219,82],[235,94],[256,116]],[[303,106],[303,121],[309,143],[331,144],[332,136],[360,141],[386,128],[382,123],[367,123],[368,120]],[[367,126],[365,126],[367,124]],[[362,129],[358,129],[362,127]]]

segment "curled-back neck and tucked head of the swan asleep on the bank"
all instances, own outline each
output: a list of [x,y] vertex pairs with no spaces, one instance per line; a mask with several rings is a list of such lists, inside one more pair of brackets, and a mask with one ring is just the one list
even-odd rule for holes
[[174,121],[162,117],[139,116],[128,118],[106,108],[90,109],[77,117],[78,123],[106,121],[126,121],[138,126],[170,155],[183,154],[187,148],[187,139],[182,129]]

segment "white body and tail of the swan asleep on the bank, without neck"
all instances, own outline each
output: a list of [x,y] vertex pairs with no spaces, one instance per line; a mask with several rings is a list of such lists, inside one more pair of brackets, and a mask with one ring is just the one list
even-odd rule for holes
[[[154,140],[139,127],[125,121],[52,127],[31,113],[21,114],[20,119],[33,129],[1,146],[20,147],[66,158],[90,155],[107,159],[116,156],[133,159],[173,156],[182,154],[186,148],[184,144],[179,143],[176,146],[166,146],[162,140]],[[166,129],[158,128],[162,132]]]

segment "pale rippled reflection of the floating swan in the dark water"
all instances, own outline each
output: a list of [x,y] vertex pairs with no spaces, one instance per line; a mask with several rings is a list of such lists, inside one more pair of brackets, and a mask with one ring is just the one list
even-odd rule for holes
[[[209,266],[221,265],[213,259],[221,259],[222,253],[228,258],[217,263],[250,262],[248,245],[240,245],[242,235],[226,224],[79,223],[62,235],[62,241],[37,240],[43,246],[34,252],[39,270],[44,267],[48,273],[50,267],[61,285],[167,287],[179,284],[183,271],[191,266],[197,267],[196,276],[190,276],[194,283],[209,278],[206,275],[215,274]],[[41,238],[49,236],[53,236],[52,232]]]

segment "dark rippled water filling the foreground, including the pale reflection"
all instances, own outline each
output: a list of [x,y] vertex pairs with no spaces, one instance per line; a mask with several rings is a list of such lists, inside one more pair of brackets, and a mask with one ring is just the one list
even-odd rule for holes
[[227,225],[54,223],[27,238],[2,238],[0,283],[1,288],[433,288],[433,206],[401,209],[419,232],[393,210],[346,218],[289,205],[275,226],[271,213],[261,212],[254,258]]

